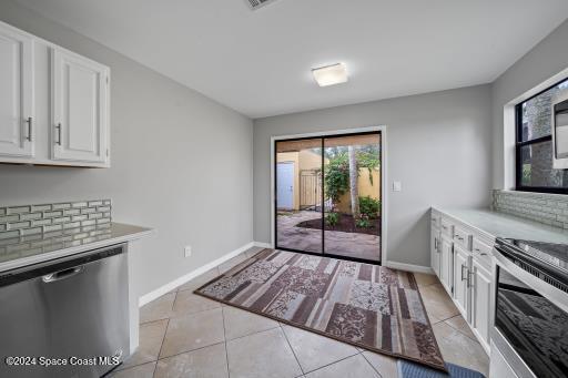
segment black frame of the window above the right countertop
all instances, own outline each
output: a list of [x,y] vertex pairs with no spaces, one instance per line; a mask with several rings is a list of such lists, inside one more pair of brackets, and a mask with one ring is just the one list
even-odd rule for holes
[[[552,143],[552,130],[550,125],[550,134],[540,136],[530,141],[523,142],[523,104],[539,96],[540,94],[551,90],[555,86],[560,85],[561,83],[568,81],[568,78],[565,78],[557,82],[554,85],[548,86],[546,90],[534,94],[532,96],[519,102],[515,105],[515,190],[518,192],[537,192],[537,193],[552,193],[552,194],[568,194],[568,187],[551,187],[551,186],[524,186],[523,185],[523,164],[521,164],[521,154],[520,150],[524,146],[532,145],[541,142]],[[554,149],[554,146],[552,146]]]

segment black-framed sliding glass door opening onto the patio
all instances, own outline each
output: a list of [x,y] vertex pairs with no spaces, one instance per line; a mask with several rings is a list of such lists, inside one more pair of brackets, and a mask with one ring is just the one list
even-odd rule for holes
[[381,133],[275,142],[276,248],[381,262]]

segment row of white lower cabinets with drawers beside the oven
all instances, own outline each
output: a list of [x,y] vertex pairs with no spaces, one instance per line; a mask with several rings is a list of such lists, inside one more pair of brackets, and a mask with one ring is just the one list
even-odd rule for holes
[[489,354],[494,307],[490,249],[494,242],[487,234],[481,235],[476,228],[446,216],[443,212],[436,210],[436,216],[440,227],[432,223],[432,268]]

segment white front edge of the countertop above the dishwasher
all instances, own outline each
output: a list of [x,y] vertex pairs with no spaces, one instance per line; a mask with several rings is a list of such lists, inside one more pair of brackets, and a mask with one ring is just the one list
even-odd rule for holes
[[133,241],[150,236],[155,233],[155,229],[153,229],[153,228],[134,226],[134,225],[116,223],[116,222],[113,222],[113,224],[118,225],[118,226],[132,227],[133,229],[131,233],[128,233],[128,234],[124,234],[121,236],[110,237],[110,238],[103,239],[103,241],[98,241],[98,242],[92,242],[92,243],[88,243],[88,244],[83,244],[83,245],[61,248],[61,249],[57,249],[57,251],[44,253],[44,254],[39,254],[39,255],[29,256],[29,257],[13,259],[13,260],[6,262],[6,263],[0,263],[0,273],[21,268],[24,266],[39,264],[39,263],[44,263],[44,262],[61,258],[61,257],[77,255],[77,254],[80,254],[80,253],[83,253],[87,251],[102,248],[102,247],[106,247],[106,246],[113,245],[113,244],[133,242]]

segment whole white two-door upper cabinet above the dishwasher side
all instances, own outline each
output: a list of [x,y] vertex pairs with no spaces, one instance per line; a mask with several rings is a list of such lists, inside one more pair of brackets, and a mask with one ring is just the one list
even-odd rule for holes
[[0,22],[0,163],[110,166],[110,69]]

